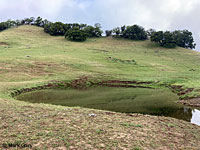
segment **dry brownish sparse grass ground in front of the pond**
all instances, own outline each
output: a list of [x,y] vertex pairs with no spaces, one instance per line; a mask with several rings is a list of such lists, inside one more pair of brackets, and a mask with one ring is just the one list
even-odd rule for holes
[[198,150],[200,144],[198,126],[167,117],[0,99],[0,118],[0,148],[18,141],[33,149],[80,150]]

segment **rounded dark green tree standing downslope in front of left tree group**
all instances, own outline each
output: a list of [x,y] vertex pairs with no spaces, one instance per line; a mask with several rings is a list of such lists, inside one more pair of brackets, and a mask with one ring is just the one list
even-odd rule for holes
[[65,38],[71,41],[81,42],[87,39],[87,33],[78,27],[74,27],[66,32]]

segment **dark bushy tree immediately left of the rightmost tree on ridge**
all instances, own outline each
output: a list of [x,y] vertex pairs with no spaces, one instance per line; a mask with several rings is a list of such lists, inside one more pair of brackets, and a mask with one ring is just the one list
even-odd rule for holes
[[154,32],[151,35],[151,41],[159,43],[160,46],[166,47],[166,48],[174,48],[176,47],[176,42],[174,40],[173,34],[169,31],[163,32],[158,31]]

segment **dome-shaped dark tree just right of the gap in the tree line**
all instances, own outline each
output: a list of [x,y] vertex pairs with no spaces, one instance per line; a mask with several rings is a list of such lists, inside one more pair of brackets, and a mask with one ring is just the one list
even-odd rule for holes
[[146,40],[147,33],[144,28],[138,25],[128,26],[122,33],[122,37],[132,40]]

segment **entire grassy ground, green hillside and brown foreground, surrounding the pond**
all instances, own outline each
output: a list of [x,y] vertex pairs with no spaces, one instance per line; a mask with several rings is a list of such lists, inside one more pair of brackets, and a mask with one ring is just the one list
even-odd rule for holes
[[[163,49],[149,41],[112,38],[76,43],[63,37],[51,37],[41,28],[30,26],[1,32],[0,42],[8,44],[0,45],[0,135],[3,135],[0,144],[27,140],[35,147],[45,145],[47,149],[64,149],[63,146],[86,149],[174,149],[180,146],[198,149],[199,127],[183,121],[33,105],[12,101],[8,94],[14,88],[50,80],[73,80],[82,75],[173,83],[195,87],[192,95],[200,94],[200,53],[182,48]],[[109,57],[134,59],[137,65],[113,62]],[[89,117],[91,112],[98,114],[97,117]]]

